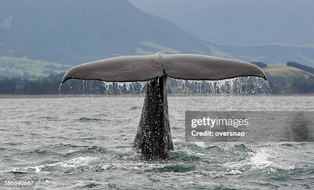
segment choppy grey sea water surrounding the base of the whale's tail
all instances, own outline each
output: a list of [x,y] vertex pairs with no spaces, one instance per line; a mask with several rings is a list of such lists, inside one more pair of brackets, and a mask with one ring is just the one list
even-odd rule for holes
[[143,97],[0,99],[0,180],[36,188],[311,189],[314,143],[187,143],[184,112],[314,111],[314,97],[168,97],[174,151],[132,149]]

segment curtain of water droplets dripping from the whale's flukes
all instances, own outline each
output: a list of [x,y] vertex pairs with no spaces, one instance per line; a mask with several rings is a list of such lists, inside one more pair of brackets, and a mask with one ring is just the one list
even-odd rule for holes
[[[61,86],[59,88],[61,90]],[[147,81],[144,82],[105,82],[96,80],[71,80],[68,81],[68,87],[63,87],[62,90],[66,94],[82,94],[86,97],[93,95],[144,95],[147,89]],[[232,79],[224,79],[218,81],[211,80],[182,80],[169,78],[167,81],[168,94],[174,96],[217,96],[223,98],[222,102],[226,106],[230,101],[247,104],[250,110],[254,110],[252,101],[260,96],[263,96],[269,104],[271,90],[269,83],[259,77],[238,77]],[[61,91],[60,91],[61,94]],[[240,96],[245,97],[248,101],[239,100]],[[95,96],[93,96],[95,97]],[[228,100],[226,100],[228,99]],[[217,103],[222,101],[217,99]],[[251,102],[250,102],[251,101]],[[230,108],[229,110],[237,110]],[[267,110],[263,109],[263,110]]]

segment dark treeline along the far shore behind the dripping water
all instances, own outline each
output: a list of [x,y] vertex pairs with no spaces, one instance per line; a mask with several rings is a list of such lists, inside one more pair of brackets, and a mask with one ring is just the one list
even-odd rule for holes
[[[59,94],[64,73],[39,78],[0,77],[0,94]],[[255,77],[222,81],[183,81],[170,79],[168,93],[224,94],[301,94],[314,92],[314,78],[269,77],[268,83]],[[62,94],[144,94],[145,82],[117,83],[94,80],[69,80],[61,87]]]

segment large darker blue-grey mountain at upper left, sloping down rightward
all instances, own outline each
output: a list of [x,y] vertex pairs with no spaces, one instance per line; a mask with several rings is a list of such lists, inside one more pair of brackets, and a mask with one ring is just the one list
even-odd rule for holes
[[209,43],[126,0],[0,0],[0,55],[70,64],[130,54],[209,54]]

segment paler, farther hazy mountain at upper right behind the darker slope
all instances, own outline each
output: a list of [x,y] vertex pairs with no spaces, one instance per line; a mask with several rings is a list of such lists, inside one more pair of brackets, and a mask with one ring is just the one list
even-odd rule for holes
[[314,44],[312,0],[129,0],[212,43]]

